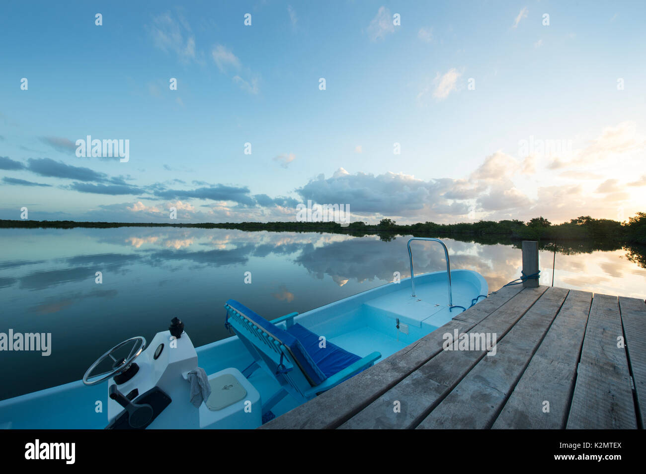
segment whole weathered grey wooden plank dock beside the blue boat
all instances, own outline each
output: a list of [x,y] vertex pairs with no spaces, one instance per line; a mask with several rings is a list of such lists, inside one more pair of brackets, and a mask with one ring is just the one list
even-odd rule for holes
[[[643,429],[644,301],[526,286],[495,291],[262,428]],[[454,330],[495,333],[495,355],[444,350]]]

